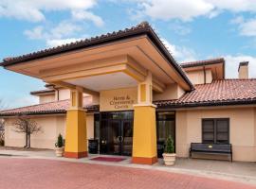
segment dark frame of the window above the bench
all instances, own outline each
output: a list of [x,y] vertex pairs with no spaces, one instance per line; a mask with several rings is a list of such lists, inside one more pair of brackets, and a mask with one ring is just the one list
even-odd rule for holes
[[[204,121],[213,121],[213,143],[212,144],[230,144],[230,121],[229,118],[203,118],[202,119],[202,143],[207,144],[204,142]],[[218,121],[227,121],[228,122],[228,143],[217,143],[217,122]]]

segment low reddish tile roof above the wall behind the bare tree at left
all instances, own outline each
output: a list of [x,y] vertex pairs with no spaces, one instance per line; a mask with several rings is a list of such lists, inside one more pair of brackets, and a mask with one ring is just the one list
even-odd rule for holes
[[[84,109],[88,112],[98,111],[96,105],[85,104]],[[17,109],[10,109],[0,112],[0,116],[11,116],[18,114],[52,114],[52,113],[65,113],[69,107],[69,100],[60,100],[55,102],[48,102],[43,104],[37,104]]]

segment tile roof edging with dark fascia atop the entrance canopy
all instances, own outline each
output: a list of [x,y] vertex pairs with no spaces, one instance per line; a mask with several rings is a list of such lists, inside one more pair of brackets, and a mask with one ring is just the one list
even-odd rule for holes
[[165,56],[169,63],[174,67],[177,73],[188,83],[191,90],[193,90],[193,85],[191,80],[186,76],[184,71],[181,69],[180,65],[174,60],[167,47],[159,39],[155,30],[150,26],[148,22],[141,22],[137,26],[132,26],[130,28],[125,28],[123,30],[114,31],[112,33],[102,34],[101,36],[92,37],[90,39],[84,39],[77,41],[75,43],[66,43],[53,48],[47,48],[41,51],[29,53],[27,55],[22,55],[18,57],[9,57],[0,62],[0,66],[9,66],[16,63],[21,63],[27,60],[41,59],[48,56],[53,56],[56,54],[69,52],[72,50],[78,50],[86,47],[91,47],[95,45],[100,45],[102,43],[111,43],[123,39],[129,39],[132,37],[137,37],[141,35],[147,35],[153,43],[158,47],[159,51]]

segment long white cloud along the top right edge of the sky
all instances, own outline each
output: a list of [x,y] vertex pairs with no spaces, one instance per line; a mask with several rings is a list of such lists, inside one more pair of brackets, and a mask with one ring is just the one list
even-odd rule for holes
[[[137,18],[192,21],[198,16],[209,18],[224,10],[256,12],[255,0],[130,0],[137,3]],[[134,12],[134,11],[132,11]]]

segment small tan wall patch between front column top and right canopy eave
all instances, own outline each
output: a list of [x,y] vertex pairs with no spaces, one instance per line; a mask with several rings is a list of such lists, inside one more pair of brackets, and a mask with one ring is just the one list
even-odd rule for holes
[[166,87],[163,93],[154,93],[153,100],[178,99],[184,93],[184,90],[180,86],[177,84],[171,84]]

